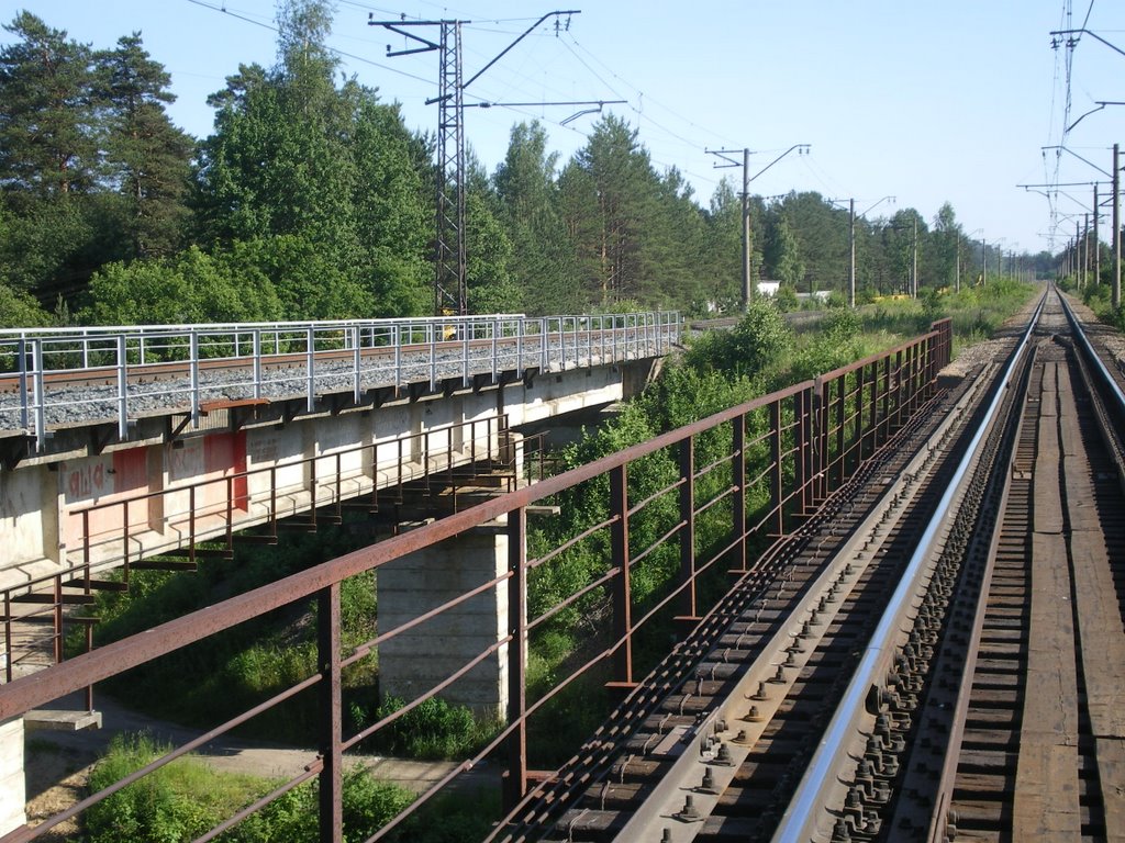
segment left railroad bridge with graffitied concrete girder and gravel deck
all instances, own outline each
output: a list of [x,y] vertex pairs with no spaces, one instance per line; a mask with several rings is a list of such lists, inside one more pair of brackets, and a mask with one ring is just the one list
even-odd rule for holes
[[[640,391],[680,327],[648,312],[0,332],[6,681],[62,661],[68,626],[89,629],[68,607],[127,588],[134,571],[191,571],[348,508],[374,538],[525,484],[523,432]],[[505,542],[482,526],[387,569],[381,622],[492,580]],[[387,691],[408,697],[425,668],[495,645],[504,600],[493,589],[388,642]],[[459,701],[503,709],[500,655]],[[87,709],[27,719],[96,723]],[[10,753],[20,722],[4,729]],[[21,778],[9,756],[4,830],[22,822]]]

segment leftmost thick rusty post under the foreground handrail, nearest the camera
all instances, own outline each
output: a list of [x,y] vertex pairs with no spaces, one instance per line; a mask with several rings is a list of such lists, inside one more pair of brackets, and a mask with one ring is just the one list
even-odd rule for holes
[[343,843],[343,713],[340,681],[340,582],[316,596],[316,655],[320,682],[321,843]]

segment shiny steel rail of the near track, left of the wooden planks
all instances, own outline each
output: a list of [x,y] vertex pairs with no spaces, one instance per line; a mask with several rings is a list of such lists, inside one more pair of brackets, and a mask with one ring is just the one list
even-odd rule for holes
[[793,798],[790,800],[781,822],[777,824],[773,836],[775,843],[803,843],[804,841],[812,840],[813,835],[819,832],[818,822],[824,816],[825,794],[828,789],[836,786],[836,771],[844,763],[855,734],[856,725],[866,710],[866,700],[871,687],[885,673],[885,662],[894,655],[893,634],[901,622],[902,613],[908,608],[915,595],[917,588],[916,579],[929,560],[930,549],[938,535],[938,531],[945,522],[962,482],[969,474],[980,444],[987,430],[991,427],[993,417],[999,410],[1005,391],[1017,371],[1017,363],[1028,345],[1045,301],[1046,293],[1040,298],[1027,329],[1012,352],[1002,375],[997,381],[996,395],[989,404],[973,438],[969,443],[965,456],[957,465],[950,484],[942,495],[937,508],[918,542],[918,547],[911,555],[902,578],[888,602],[886,609],[880,618],[870,643],[864,650],[852,681],[844,692],[840,705],[837,707],[825,732],[825,736],[812,756],[812,761],[806,769]]

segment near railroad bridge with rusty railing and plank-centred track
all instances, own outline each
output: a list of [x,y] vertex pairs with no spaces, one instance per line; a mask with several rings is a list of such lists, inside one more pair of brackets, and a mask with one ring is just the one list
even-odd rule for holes
[[[315,698],[304,771],[199,840],[310,779],[320,839],[342,840],[349,759],[484,664],[506,688],[498,731],[364,832],[369,841],[424,821],[443,786],[482,767],[503,770],[503,814],[485,836],[505,843],[1120,840],[1122,354],[1050,288],[1022,321],[950,369],[943,320],[18,678],[0,687],[0,720],[274,609],[314,605],[317,660],[305,678],[144,771],[295,695]],[[585,516],[572,533],[536,528],[533,516],[569,505]],[[379,579],[403,559],[486,534],[503,540],[489,545],[490,579],[410,618],[387,620],[380,606],[375,638],[341,642],[349,578]],[[506,599],[496,635],[428,678],[404,709],[343,722],[353,665],[486,591]],[[529,659],[562,613],[593,622],[578,625],[588,635],[530,681]],[[569,713],[595,701],[606,718],[573,758],[546,754]],[[0,842],[34,840],[116,787]]]

